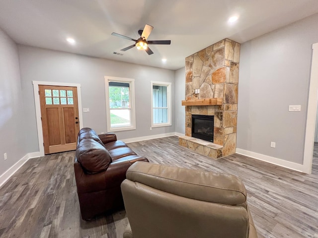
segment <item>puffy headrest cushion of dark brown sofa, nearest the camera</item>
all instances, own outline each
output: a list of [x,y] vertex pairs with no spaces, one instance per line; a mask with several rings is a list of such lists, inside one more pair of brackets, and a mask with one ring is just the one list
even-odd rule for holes
[[91,138],[81,139],[76,150],[76,158],[87,174],[105,171],[112,162],[106,148]]

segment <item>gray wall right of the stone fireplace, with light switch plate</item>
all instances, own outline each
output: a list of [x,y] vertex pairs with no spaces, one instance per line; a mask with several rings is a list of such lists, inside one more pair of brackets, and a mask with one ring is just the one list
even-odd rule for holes
[[315,14],[241,45],[237,148],[303,163],[317,25]]

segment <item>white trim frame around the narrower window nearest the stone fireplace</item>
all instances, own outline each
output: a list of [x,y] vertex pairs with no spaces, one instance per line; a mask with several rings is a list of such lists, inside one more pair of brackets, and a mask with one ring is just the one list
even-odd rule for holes
[[[171,83],[169,83],[169,82],[159,82],[159,81],[150,81],[150,84],[151,84],[150,85],[150,88],[151,88],[151,127],[170,126],[171,125]],[[166,86],[167,87],[168,122],[166,122],[166,123],[156,123],[156,124],[154,124],[153,85]]]

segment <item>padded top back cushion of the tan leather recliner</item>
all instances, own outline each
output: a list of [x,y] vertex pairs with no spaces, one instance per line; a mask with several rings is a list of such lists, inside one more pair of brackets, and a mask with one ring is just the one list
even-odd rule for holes
[[246,190],[236,176],[137,162],[127,179],[164,192],[201,201],[245,206]]

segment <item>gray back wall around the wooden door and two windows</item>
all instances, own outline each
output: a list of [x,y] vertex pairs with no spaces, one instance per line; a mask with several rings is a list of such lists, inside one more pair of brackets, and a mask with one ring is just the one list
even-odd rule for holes
[[[175,132],[172,126],[151,126],[151,86],[150,81],[172,83],[174,98],[174,71],[139,64],[91,58],[70,53],[50,51],[18,45],[21,81],[24,101],[27,107],[25,120],[28,130],[27,146],[29,152],[39,151],[35,119],[35,106],[32,80],[67,82],[81,84],[81,102],[89,113],[82,113],[83,126],[91,127],[97,133],[106,132],[106,107],[104,76],[135,79],[136,130],[116,132],[118,139],[157,135]],[[172,100],[172,112],[174,112]],[[172,122],[175,121],[172,113]]]

